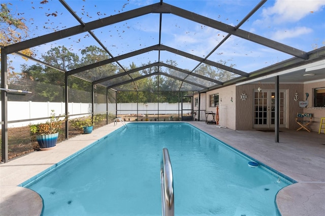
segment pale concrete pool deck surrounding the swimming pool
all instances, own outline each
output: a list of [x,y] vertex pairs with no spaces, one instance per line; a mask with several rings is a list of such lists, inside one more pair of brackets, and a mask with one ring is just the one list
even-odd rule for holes
[[[283,216],[325,215],[324,133],[283,129],[279,142],[275,142],[274,132],[234,131],[205,122],[187,123],[297,181],[279,191],[276,197]],[[0,164],[0,215],[40,215],[41,197],[17,185],[119,127],[121,123],[117,126],[112,123],[91,134],[58,143],[52,150],[33,152]]]

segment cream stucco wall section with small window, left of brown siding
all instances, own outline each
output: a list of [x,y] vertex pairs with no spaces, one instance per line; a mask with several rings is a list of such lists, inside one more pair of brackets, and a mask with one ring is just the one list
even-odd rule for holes
[[219,93],[219,126],[236,130],[236,86],[231,85],[206,93],[206,110],[213,113],[216,113],[216,107],[210,107],[209,97],[216,93]]

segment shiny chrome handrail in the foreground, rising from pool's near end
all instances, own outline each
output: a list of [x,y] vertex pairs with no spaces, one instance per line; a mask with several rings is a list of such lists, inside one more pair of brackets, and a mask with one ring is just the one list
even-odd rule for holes
[[168,149],[163,149],[160,161],[161,215],[174,216],[173,169]]

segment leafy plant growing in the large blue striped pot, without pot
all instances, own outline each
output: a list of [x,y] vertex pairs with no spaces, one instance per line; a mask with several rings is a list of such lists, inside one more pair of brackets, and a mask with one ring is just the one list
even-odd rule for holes
[[59,132],[59,130],[62,128],[62,123],[64,121],[62,117],[64,116],[55,116],[54,110],[52,110],[49,121],[47,121],[46,123],[34,124],[29,126],[31,134],[45,135]]

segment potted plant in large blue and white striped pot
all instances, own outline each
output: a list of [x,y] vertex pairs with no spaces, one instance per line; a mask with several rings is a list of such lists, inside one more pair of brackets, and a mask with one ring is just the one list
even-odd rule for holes
[[30,133],[36,135],[40,145],[40,150],[50,150],[56,146],[59,130],[62,128],[62,115],[55,116],[54,110],[51,111],[50,120],[46,123],[30,125]]

